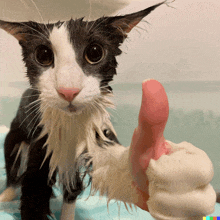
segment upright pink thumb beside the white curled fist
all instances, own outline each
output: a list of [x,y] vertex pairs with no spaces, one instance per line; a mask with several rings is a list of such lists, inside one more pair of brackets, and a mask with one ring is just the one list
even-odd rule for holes
[[169,116],[169,104],[163,86],[156,80],[142,83],[142,103],[138,127],[131,143],[131,169],[135,183],[146,191],[148,180],[146,170],[150,159],[157,160],[162,154],[168,154],[163,132]]

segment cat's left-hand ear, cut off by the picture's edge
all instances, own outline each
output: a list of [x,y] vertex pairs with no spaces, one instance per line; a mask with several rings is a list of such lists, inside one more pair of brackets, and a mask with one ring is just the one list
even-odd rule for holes
[[18,41],[25,40],[25,34],[22,33],[22,23],[0,20],[0,28],[14,36]]

